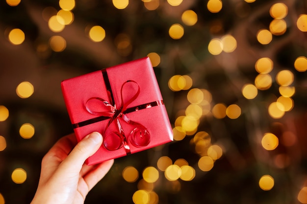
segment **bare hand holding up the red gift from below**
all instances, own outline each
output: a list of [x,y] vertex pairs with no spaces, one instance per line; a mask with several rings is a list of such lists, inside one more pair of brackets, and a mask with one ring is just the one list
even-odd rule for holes
[[110,170],[114,160],[87,166],[84,161],[102,145],[94,132],[77,143],[74,134],[59,139],[42,159],[41,175],[31,204],[84,204],[88,192]]

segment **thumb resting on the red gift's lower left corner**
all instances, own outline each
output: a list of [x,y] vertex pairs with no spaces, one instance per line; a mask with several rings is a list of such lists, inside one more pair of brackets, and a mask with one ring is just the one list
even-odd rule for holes
[[100,148],[102,140],[102,135],[98,132],[93,132],[85,136],[62,162],[62,165],[65,166],[63,168],[67,172],[77,171],[79,173],[84,161]]

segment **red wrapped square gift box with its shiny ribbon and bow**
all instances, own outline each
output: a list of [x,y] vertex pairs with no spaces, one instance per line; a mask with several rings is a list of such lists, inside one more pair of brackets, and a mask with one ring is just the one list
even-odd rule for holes
[[77,140],[100,132],[93,165],[173,141],[173,131],[148,57],[62,81]]

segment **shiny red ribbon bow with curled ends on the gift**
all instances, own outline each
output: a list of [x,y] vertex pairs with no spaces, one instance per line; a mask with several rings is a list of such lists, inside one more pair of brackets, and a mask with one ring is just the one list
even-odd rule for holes
[[[126,86],[128,83],[130,85],[136,85],[137,90],[133,94],[129,93],[128,95],[130,98],[128,98],[127,101],[124,101],[123,89],[124,86]],[[102,134],[103,145],[107,150],[114,151],[120,149],[123,146],[126,154],[131,154],[130,146],[128,145],[128,139],[122,128],[120,118],[121,121],[124,121],[134,127],[128,136],[129,141],[133,146],[141,148],[147,146],[150,143],[151,137],[147,128],[138,122],[132,121],[126,115],[127,112],[131,112],[129,112],[127,109],[128,105],[138,97],[139,93],[139,85],[133,80],[128,80],[123,83],[121,87],[121,104],[118,109],[116,108],[114,101],[112,101],[112,93],[110,91],[108,91],[108,101],[100,97],[91,97],[86,101],[85,108],[89,113],[110,118]],[[138,107],[135,107],[134,111],[137,110]],[[116,126],[117,131],[112,131],[112,128],[110,128],[112,124]]]

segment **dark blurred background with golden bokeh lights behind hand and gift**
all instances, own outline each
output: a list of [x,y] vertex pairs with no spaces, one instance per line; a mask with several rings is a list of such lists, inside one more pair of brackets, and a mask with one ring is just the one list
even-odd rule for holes
[[30,203],[73,132],[60,82],[145,56],[174,141],[115,159],[86,204],[306,204],[306,14],[306,0],[2,0],[0,204]]

